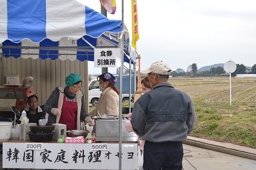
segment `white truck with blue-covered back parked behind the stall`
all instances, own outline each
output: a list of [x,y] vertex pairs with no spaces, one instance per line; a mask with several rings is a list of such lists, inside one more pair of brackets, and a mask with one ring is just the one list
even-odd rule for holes
[[[115,86],[117,89],[119,88],[119,75],[114,75],[117,78],[117,83]],[[137,83],[136,83],[137,84]],[[123,75],[122,76],[122,102],[129,102],[129,75]],[[131,83],[131,101],[134,99],[134,83],[133,83],[133,75],[132,75],[132,83]],[[102,91],[99,89],[99,81],[97,79],[92,79],[89,83],[89,103],[92,104],[92,106],[96,106],[96,104],[99,101],[99,97]]]

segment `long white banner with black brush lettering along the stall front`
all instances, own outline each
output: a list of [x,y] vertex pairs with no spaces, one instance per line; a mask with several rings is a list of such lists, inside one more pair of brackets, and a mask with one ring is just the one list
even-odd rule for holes
[[[3,143],[3,168],[119,169],[119,144],[92,150],[92,144],[43,143],[42,150],[25,149],[25,143]],[[122,144],[122,169],[138,169],[138,144]]]

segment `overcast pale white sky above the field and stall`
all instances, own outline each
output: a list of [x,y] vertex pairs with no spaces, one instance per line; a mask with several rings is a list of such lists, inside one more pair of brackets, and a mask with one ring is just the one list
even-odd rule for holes
[[[99,0],[79,1],[100,12]],[[122,1],[116,2],[116,13],[107,17],[121,20]],[[137,6],[141,69],[158,60],[173,71],[186,71],[193,63],[199,69],[230,59],[245,66],[256,64],[255,0],[137,0]],[[130,32],[131,0],[124,0],[124,23]],[[89,74],[96,73],[101,68],[94,68],[90,61]]]

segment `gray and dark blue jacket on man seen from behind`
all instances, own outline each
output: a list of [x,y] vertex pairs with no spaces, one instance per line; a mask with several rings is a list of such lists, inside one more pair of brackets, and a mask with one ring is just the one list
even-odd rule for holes
[[132,128],[142,139],[151,142],[184,141],[196,121],[190,97],[159,83],[142,95],[132,110]]

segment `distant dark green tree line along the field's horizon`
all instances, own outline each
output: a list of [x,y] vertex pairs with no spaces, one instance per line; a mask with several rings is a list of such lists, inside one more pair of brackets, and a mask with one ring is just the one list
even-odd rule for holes
[[[236,64],[237,68],[235,72],[231,73],[231,76],[235,77],[237,74],[256,74],[256,64],[249,69],[243,64]],[[210,70],[197,71],[197,64],[193,63],[187,67],[186,72],[179,68],[176,71],[171,72],[171,76],[189,76],[189,77],[209,77],[225,74],[226,71],[222,66],[211,67]]]

